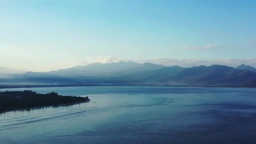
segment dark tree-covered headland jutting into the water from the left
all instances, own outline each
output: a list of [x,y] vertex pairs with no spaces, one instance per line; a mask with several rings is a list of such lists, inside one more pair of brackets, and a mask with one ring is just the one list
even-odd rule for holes
[[38,94],[32,91],[0,92],[0,112],[17,109],[65,105],[89,101],[88,97],[62,96],[56,92]]

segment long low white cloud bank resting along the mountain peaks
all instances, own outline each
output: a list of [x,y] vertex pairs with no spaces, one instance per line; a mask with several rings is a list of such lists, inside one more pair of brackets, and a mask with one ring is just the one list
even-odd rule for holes
[[86,57],[83,60],[78,60],[77,65],[88,65],[91,63],[114,63],[120,61],[131,61],[136,63],[151,62],[158,65],[173,66],[178,65],[181,67],[192,67],[199,65],[229,65],[236,67],[241,64],[251,65],[256,67],[256,58],[252,59],[121,59],[116,56],[96,56]]

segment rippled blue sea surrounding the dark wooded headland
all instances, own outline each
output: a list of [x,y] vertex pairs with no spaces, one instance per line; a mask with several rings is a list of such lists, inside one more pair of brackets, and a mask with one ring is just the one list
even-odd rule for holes
[[88,96],[91,101],[2,113],[0,144],[256,143],[253,88],[29,89]]

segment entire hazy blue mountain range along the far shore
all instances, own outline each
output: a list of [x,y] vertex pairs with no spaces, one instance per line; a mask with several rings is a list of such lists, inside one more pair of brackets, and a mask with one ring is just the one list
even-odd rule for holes
[[92,63],[50,72],[25,72],[1,78],[2,85],[29,86],[230,86],[254,87],[256,69],[249,65],[164,66],[145,62]]

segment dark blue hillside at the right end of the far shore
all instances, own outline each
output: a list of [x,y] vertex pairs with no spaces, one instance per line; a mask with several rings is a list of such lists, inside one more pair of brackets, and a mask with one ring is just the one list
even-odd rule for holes
[[227,85],[239,84],[256,79],[256,73],[249,70],[239,70],[224,65],[194,66],[183,69],[158,81],[159,84],[170,85]]

